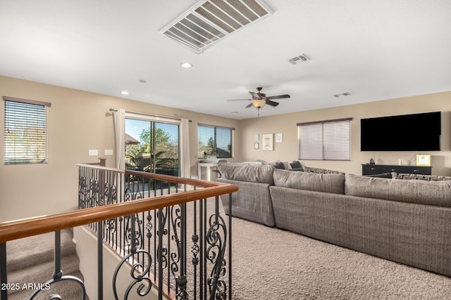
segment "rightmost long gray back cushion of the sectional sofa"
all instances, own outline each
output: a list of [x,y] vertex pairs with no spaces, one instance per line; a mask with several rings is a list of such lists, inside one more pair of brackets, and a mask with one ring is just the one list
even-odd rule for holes
[[450,181],[393,180],[346,174],[346,195],[451,207]]

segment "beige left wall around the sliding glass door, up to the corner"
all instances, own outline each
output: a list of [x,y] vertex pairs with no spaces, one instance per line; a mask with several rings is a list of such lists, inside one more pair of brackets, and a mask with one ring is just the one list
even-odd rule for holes
[[[125,108],[175,118],[191,119],[190,156],[192,174],[197,174],[197,123],[237,128],[234,119],[176,110],[123,98],[99,95],[31,81],[0,77],[0,95],[51,103],[48,109],[48,164],[5,165],[3,138],[0,139],[0,221],[53,214],[78,205],[80,162],[96,162],[89,149],[115,149],[113,115],[109,108]],[[4,105],[0,105],[1,133],[4,132]],[[237,130],[239,134],[239,130]],[[114,167],[115,157],[106,156]]]

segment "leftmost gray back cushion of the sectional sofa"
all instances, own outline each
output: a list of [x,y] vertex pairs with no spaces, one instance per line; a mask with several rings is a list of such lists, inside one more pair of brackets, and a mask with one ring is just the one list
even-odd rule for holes
[[230,180],[274,184],[274,167],[267,164],[218,164],[218,171]]

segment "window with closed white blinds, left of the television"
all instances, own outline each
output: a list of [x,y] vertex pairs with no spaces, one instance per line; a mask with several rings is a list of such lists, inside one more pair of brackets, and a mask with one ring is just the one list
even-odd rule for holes
[[350,160],[351,119],[297,124],[299,159]]

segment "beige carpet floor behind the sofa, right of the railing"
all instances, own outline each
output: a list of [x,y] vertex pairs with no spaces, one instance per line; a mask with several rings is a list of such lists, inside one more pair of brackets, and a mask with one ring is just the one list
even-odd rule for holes
[[451,299],[451,278],[234,218],[233,299]]

